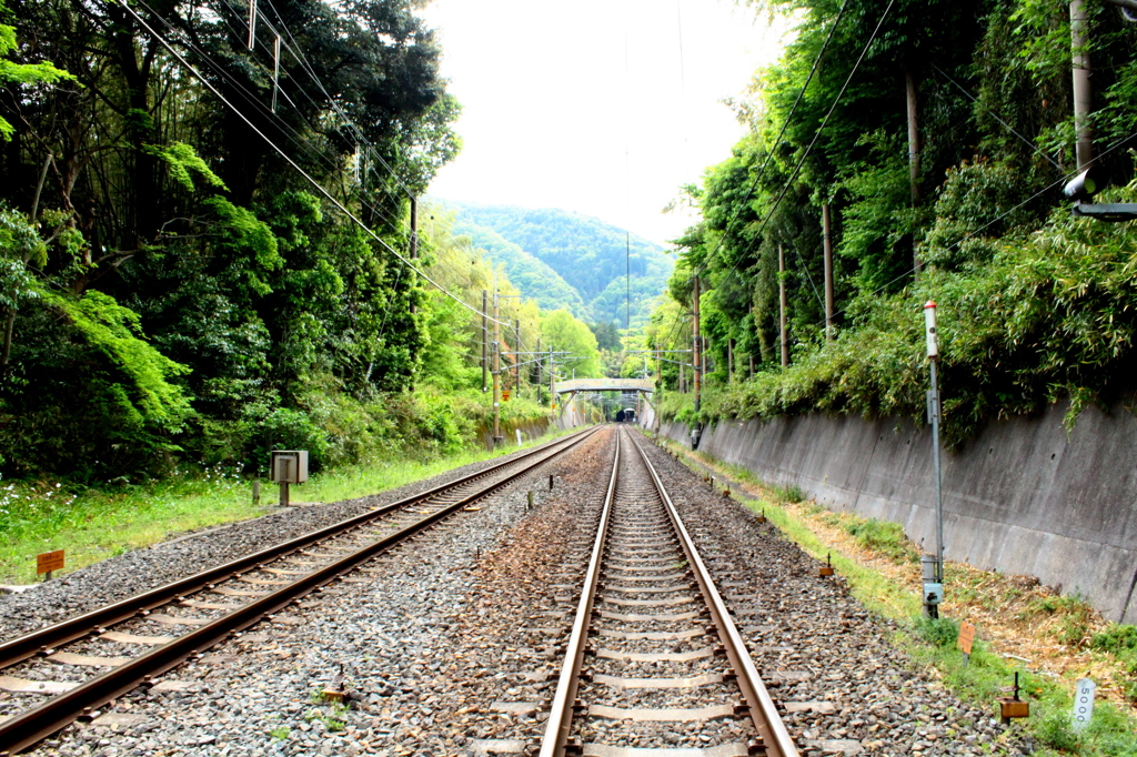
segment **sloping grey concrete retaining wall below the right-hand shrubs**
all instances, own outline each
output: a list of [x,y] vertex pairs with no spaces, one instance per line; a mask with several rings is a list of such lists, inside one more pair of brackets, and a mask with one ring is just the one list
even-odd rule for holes
[[[1068,435],[1064,413],[993,424],[945,455],[945,556],[1035,575],[1081,592],[1111,621],[1137,623],[1137,418],[1089,408]],[[690,443],[686,425],[659,431]],[[927,427],[823,415],[723,422],[703,432],[699,451],[935,543]]]

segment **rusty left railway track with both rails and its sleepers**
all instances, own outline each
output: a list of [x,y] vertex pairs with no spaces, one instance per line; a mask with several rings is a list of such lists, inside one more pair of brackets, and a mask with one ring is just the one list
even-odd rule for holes
[[345,579],[591,433],[0,644],[0,757],[93,717],[140,685],[163,687],[157,679],[167,671]]

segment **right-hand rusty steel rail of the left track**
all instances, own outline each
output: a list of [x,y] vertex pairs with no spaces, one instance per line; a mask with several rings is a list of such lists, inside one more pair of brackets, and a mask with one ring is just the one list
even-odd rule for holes
[[[68,692],[58,694],[38,707],[25,710],[11,718],[0,723],[0,757],[7,757],[32,747],[43,739],[56,733],[72,722],[90,716],[94,710],[124,693],[151,683],[153,676],[160,675],[191,657],[198,657],[205,649],[224,641],[233,633],[243,631],[255,625],[264,617],[272,615],[299,599],[324,587],[339,576],[351,572],[362,563],[366,563],[374,556],[390,549],[391,547],[414,536],[446,517],[457,513],[471,502],[476,501],[507,484],[522,475],[529,473],[534,467],[548,461],[553,457],[572,449],[578,443],[596,432],[596,429],[580,432],[566,440],[557,440],[550,444],[542,446],[538,450],[548,452],[547,455],[526,455],[522,459],[530,460],[528,465],[512,472],[505,479],[496,481],[488,486],[463,496],[458,501],[448,505],[441,510],[428,515],[416,523],[388,534],[372,544],[364,547],[334,563],[317,568],[313,573],[301,576],[293,583],[283,587],[265,597],[260,597],[247,605],[243,605],[227,615],[224,615],[206,625],[199,626],[182,637],[174,639],[149,652],[140,655],[118,667],[111,668],[90,681],[72,689]],[[559,448],[551,449],[557,444]],[[506,465],[516,464],[517,459],[511,460]],[[506,467],[498,466],[498,469]],[[466,482],[471,476],[464,476],[458,481]],[[434,488],[432,491],[447,489],[449,486]],[[422,496],[412,498],[410,501],[422,499]],[[352,521],[355,518],[351,518]],[[289,542],[291,543],[291,542]]]

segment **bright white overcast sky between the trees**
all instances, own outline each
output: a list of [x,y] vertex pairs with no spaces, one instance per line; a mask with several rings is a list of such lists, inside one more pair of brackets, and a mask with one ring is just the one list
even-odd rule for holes
[[562,208],[658,243],[680,185],[742,127],[721,102],[773,61],[781,33],[730,0],[434,0],[462,153],[434,197]]

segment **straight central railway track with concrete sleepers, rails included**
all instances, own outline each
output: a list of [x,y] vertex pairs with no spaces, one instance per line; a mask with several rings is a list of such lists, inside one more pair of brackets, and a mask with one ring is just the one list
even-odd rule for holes
[[540,756],[796,757],[663,482],[617,433]]

